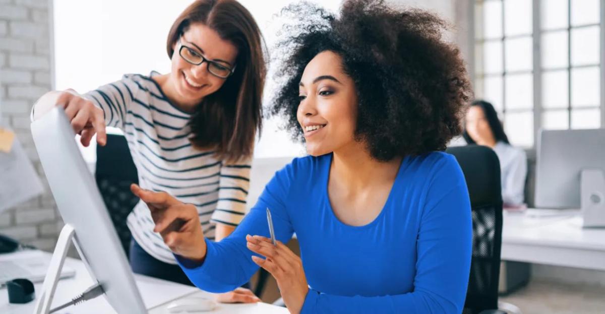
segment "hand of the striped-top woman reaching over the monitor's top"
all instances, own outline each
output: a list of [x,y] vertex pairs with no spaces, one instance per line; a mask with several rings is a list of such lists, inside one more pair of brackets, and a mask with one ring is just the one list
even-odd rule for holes
[[103,110],[90,100],[81,97],[76,91],[51,91],[40,97],[34,106],[34,120],[38,120],[55,106],[61,106],[65,110],[67,119],[70,120],[71,128],[82,136],[80,138],[82,145],[88,146],[94,134],[97,134],[97,143],[105,146],[107,135]]

